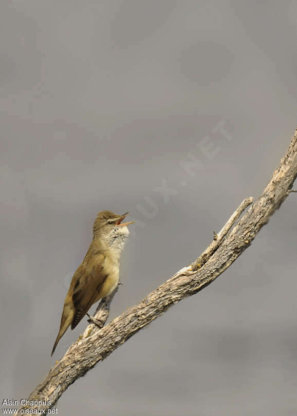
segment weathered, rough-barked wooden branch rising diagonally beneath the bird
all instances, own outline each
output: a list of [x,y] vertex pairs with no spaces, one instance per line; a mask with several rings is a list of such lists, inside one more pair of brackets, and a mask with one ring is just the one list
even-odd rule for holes
[[[73,343],[60,362],[30,394],[32,400],[48,400],[50,408],[63,392],[99,361],[104,360],[127,339],[174,304],[208,286],[249,247],[256,234],[286,199],[297,176],[297,130],[280,165],[275,169],[262,195],[235,224],[252,198],[245,199],[227,221],[214,241],[190,266],[179,270],[137,305],[129,308],[103,328],[90,324],[80,339]],[[235,225],[234,225],[235,224]],[[233,226],[234,225],[234,226]],[[233,228],[232,228],[233,226]],[[232,228],[232,230],[231,230]],[[101,301],[95,317],[106,322],[110,301]],[[34,408],[34,406],[27,406]]]

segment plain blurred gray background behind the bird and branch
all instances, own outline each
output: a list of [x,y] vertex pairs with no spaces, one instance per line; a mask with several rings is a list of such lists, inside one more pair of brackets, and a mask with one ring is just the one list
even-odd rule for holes
[[[98,211],[137,221],[116,317],[262,192],[296,125],[297,6],[0,8],[0,391],[20,400],[86,326],[50,357]],[[232,140],[213,132],[222,120]],[[206,136],[213,157],[197,147]],[[189,153],[196,166],[186,172]],[[175,190],[169,200],[155,190],[162,182]],[[296,207],[291,194],[230,269],[72,385],[58,414],[296,415]]]

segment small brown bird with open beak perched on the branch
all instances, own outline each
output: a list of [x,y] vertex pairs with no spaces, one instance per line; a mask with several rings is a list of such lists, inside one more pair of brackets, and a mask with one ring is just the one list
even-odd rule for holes
[[129,234],[127,225],[134,222],[122,222],[127,215],[116,215],[111,211],[101,211],[97,215],[90,247],[73,275],[66,295],[60,330],[51,355],[69,326],[74,329],[93,304],[116,289],[120,255]]

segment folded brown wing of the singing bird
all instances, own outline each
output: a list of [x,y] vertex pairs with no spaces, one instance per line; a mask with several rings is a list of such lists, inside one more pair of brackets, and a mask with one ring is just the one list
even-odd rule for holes
[[93,256],[83,262],[72,278],[72,301],[75,308],[71,329],[75,328],[89,308],[98,300],[107,274],[104,272],[104,255]]

